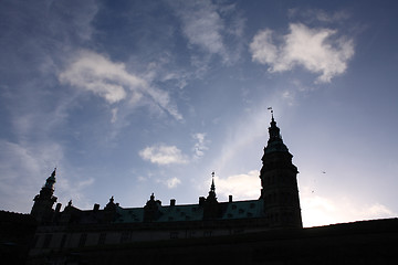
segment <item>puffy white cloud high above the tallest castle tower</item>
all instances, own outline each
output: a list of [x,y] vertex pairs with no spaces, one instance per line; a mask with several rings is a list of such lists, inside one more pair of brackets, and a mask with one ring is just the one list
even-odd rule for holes
[[346,71],[347,62],[354,55],[353,40],[336,38],[336,30],[310,29],[301,23],[292,23],[290,33],[283,36],[283,43],[279,46],[274,44],[273,35],[271,30],[262,30],[250,43],[252,60],[268,64],[271,73],[290,71],[300,65],[321,74],[317,82],[328,83]]

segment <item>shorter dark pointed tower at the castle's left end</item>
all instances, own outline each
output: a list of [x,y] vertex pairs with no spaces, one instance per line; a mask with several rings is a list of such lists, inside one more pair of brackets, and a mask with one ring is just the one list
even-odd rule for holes
[[56,197],[54,193],[55,184],[55,171],[45,180],[45,184],[40,190],[40,194],[35,195],[33,201],[34,204],[31,210],[31,214],[35,218],[38,222],[49,222],[52,218],[54,210],[52,209],[54,202],[56,202]]

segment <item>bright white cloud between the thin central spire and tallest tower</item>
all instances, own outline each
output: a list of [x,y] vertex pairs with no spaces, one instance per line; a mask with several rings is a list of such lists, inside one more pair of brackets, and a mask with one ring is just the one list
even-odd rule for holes
[[251,170],[248,173],[234,174],[226,179],[216,177],[217,194],[233,195],[237,200],[259,199],[261,190],[259,176],[259,170]]

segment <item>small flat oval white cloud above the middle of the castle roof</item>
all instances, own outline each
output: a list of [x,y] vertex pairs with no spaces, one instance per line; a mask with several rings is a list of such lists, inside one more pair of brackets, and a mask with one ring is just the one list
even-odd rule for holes
[[146,147],[139,151],[144,160],[157,165],[187,163],[188,159],[176,146],[158,145]]

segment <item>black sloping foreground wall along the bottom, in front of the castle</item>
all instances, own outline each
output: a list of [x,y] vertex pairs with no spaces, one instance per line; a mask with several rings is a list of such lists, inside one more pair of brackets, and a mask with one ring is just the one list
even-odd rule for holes
[[398,264],[398,220],[65,250],[29,264]]

